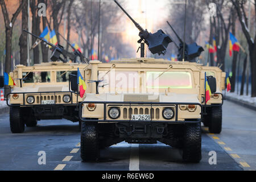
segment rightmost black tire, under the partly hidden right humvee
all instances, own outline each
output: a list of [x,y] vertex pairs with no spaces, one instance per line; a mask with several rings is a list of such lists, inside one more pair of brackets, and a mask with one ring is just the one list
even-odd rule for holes
[[210,113],[211,121],[209,123],[209,132],[219,134],[222,129],[222,107],[213,106]]

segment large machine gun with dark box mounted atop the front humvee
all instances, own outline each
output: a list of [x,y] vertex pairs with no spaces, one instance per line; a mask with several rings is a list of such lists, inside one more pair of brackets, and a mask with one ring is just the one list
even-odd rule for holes
[[144,30],[131,16],[123,9],[123,7],[114,0],[115,3],[121,8],[121,10],[131,19],[135,26],[139,30],[139,36],[141,39],[138,43],[141,44],[141,57],[144,57],[144,44],[146,43],[148,49],[152,54],[158,53],[158,55],[165,55],[168,44],[172,42],[171,38],[164,34],[163,30],[158,30],[154,34],[151,34],[147,30]]

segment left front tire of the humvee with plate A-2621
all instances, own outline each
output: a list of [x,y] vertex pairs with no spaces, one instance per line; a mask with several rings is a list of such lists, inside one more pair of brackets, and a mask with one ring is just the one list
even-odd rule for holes
[[81,158],[84,162],[96,162],[100,157],[97,123],[81,123]]

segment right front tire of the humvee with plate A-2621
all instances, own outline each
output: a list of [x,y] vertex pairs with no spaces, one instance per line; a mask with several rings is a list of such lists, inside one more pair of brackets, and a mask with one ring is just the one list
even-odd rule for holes
[[201,154],[201,123],[188,123],[184,126],[183,161],[199,163]]

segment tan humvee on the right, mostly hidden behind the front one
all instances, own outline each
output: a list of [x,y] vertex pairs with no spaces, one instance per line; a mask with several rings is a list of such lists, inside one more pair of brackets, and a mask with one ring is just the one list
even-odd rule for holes
[[202,103],[204,108],[204,117],[202,122],[205,126],[209,126],[210,133],[221,133],[222,129],[222,105],[224,96],[222,90],[225,90],[226,73],[218,67],[202,66],[202,71],[206,72],[207,77],[216,78],[216,92],[212,92],[210,100],[205,104]]

